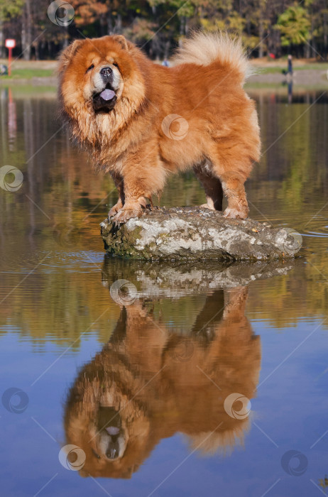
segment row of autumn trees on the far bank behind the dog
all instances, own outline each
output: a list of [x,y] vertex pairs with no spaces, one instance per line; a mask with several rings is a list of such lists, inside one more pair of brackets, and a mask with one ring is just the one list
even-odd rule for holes
[[327,0],[0,0],[0,56],[54,58],[74,38],[121,33],[168,58],[195,29],[240,35],[254,57],[327,59]]

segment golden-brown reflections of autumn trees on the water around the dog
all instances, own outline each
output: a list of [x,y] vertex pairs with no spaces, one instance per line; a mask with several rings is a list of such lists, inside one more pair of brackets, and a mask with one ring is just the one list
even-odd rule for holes
[[[270,97],[261,96],[261,93],[258,95],[263,150],[266,150],[307,107],[299,103],[280,105],[275,100],[271,102]],[[310,94],[309,98],[309,102],[313,102],[315,93]],[[99,205],[93,217],[86,218],[114,189],[114,185],[108,176],[94,173],[87,155],[72,146],[65,133],[58,133],[44,146],[61,126],[60,121],[55,120],[55,99],[31,96],[16,99],[17,135],[12,152],[8,146],[8,94],[4,89],[1,89],[0,106],[0,163],[16,166],[24,174],[23,187],[18,192],[0,190],[0,246],[3,254],[0,265],[1,271],[4,271],[1,273],[1,289],[5,291],[21,279],[20,275],[13,277],[6,272],[8,268],[23,266],[22,261],[26,261],[31,254],[33,262],[28,266],[27,260],[26,265],[32,269],[35,266],[33,253],[36,251],[101,251],[99,220],[107,210],[105,204],[116,200],[116,192],[113,191]],[[268,213],[269,217],[275,215],[277,224],[286,223],[302,231],[302,225],[324,205],[328,194],[327,112],[327,104],[312,107],[263,155],[261,163],[253,170],[247,187],[248,197],[261,212]],[[161,204],[201,203],[202,195],[202,189],[193,175],[177,176],[165,188]],[[253,211],[254,214],[261,218],[258,212]],[[307,230],[327,233],[324,226],[315,229],[317,219],[320,218],[315,218]],[[324,224],[324,221],[321,223]],[[15,231],[12,226],[15,226]],[[250,316],[256,309],[263,319],[283,327],[304,315],[327,315],[327,293],[322,292],[318,284],[324,281],[320,273],[327,275],[327,259],[324,249],[311,250],[313,243],[311,239],[306,239],[307,246],[310,246],[307,253],[310,264],[301,265],[297,272],[283,278],[275,278],[270,285],[255,285],[252,288]],[[40,288],[44,290],[35,290]],[[55,272],[35,273],[17,288],[3,306],[1,324],[8,324],[11,317],[11,324],[36,339],[45,336],[51,317],[55,333],[77,337],[104,311],[105,297],[99,298],[101,292],[97,273],[89,273],[84,278],[73,273],[68,275],[62,262],[59,262]],[[193,305],[188,298],[186,312],[192,310]],[[30,301],[31,305],[26,305]],[[89,317],[92,319],[89,320]]]

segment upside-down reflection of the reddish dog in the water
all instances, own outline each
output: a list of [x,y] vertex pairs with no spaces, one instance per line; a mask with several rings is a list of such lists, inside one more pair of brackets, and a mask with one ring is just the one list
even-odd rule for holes
[[260,341],[246,298],[247,288],[209,295],[187,336],[155,322],[141,301],[121,310],[109,344],[67,398],[67,443],[86,454],[80,474],[129,478],[176,432],[205,454],[242,441],[248,418],[228,415],[224,400],[252,398],[258,382]]

